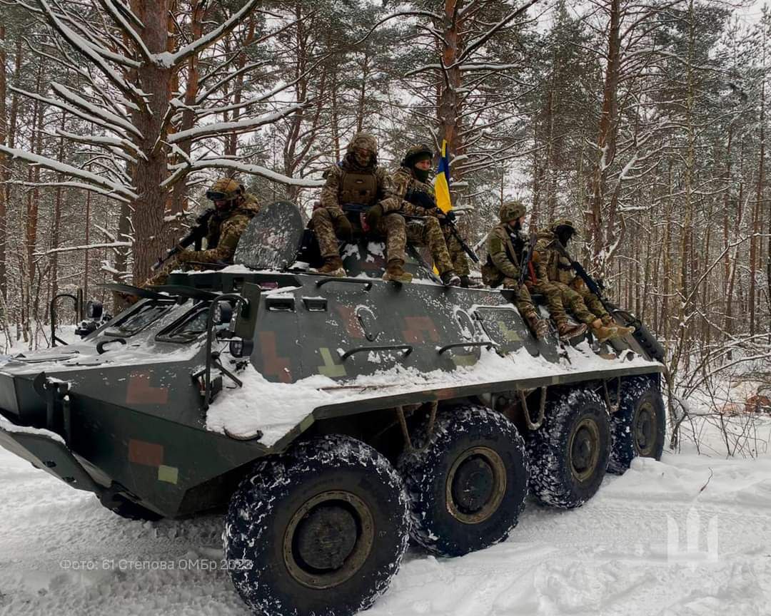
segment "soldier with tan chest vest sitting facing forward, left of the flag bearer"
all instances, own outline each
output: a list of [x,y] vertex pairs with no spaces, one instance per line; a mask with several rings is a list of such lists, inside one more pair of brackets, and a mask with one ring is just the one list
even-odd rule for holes
[[[316,271],[327,276],[345,276],[338,239],[350,242],[354,233],[362,233],[357,218],[353,223],[343,211],[346,203],[374,206],[385,197],[388,173],[379,167],[378,142],[368,132],[359,132],[348,144],[345,158],[324,172],[326,183],[322,188],[321,207],[313,211],[313,226],[324,265]],[[398,247],[398,230],[391,220],[384,220],[377,229],[386,236],[387,249]],[[390,250],[389,250],[390,253]]]

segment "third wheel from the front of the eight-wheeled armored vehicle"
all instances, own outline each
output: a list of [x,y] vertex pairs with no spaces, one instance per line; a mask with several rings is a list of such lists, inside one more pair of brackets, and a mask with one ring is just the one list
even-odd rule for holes
[[610,451],[601,397],[584,388],[554,390],[544,424],[527,439],[530,492],[541,504],[580,507],[599,489]]

